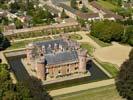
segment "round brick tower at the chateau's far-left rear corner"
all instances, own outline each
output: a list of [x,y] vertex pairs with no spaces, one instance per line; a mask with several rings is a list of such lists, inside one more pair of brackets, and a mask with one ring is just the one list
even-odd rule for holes
[[34,44],[30,43],[26,46],[26,56],[27,56],[27,62],[28,64],[32,65],[33,63],[33,49],[34,49]]

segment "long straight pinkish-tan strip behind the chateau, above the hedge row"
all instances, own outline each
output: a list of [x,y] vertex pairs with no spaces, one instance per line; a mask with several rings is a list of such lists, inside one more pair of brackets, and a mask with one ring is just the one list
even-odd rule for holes
[[77,25],[79,25],[77,22],[61,23],[61,24],[53,24],[53,25],[47,25],[47,26],[38,26],[38,27],[31,27],[31,28],[24,28],[24,29],[9,30],[9,31],[4,32],[3,34],[7,36],[7,35],[12,35],[12,34],[17,34],[17,33],[26,33],[26,32],[39,31],[39,30],[44,30],[44,29],[71,27],[71,26],[77,26]]

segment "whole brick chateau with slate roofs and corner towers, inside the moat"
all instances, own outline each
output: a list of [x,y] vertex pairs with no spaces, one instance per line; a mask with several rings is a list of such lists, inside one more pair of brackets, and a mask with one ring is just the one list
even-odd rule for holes
[[31,43],[26,48],[28,65],[41,80],[87,72],[87,50],[66,37]]

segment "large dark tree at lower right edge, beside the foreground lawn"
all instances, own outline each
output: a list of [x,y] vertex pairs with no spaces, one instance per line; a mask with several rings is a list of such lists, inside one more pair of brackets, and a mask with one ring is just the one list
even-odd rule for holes
[[129,54],[129,59],[121,65],[116,87],[123,98],[133,100],[133,50]]

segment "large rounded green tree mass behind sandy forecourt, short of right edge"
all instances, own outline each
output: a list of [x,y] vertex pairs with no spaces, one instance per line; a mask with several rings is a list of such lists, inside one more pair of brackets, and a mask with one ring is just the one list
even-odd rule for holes
[[91,35],[104,42],[121,41],[124,33],[122,24],[112,21],[98,21],[91,25]]

